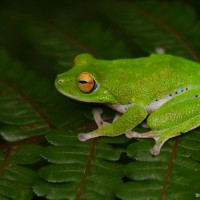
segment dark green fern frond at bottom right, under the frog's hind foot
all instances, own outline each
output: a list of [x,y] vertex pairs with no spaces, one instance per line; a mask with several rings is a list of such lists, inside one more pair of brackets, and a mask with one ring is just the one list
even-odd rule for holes
[[[194,199],[199,190],[200,147],[199,141],[195,141],[199,135],[198,131],[193,131],[186,137],[168,142],[157,157],[144,153],[143,150],[149,148],[147,141],[129,145],[127,153],[136,162],[124,168],[129,181],[122,185],[118,196],[121,199],[131,199],[135,195],[140,199],[151,196],[153,191],[153,199]],[[187,174],[190,176],[187,177]],[[132,194],[129,192],[131,187],[135,188]],[[147,196],[139,195],[139,191]]]

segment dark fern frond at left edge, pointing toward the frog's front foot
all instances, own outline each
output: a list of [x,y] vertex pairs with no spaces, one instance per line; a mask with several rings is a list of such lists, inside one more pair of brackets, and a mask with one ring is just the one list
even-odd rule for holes
[[[28,99],[30,91],[28,86],[36,83],[37,79],[33,73],[27,73],[22,70],[17,62],[12,62],[11,59],[4,53],[0,53],[1,57],[1,104],[0,104],[0,121],[2,123],[13,125],[3,127],[1,135],[10,141],[15,141],[18,138],[23,139],[31,135],[38,135],[44,129],[49,129],[51,125],[43,114],[36,108],[32,100]],[[23,80],[22,80],[23,77]],[[16,82],[20,82],[17,84]],[[42,84],[42,82],[40,82]],[[36,88],[38,87],[35,85]],[[46,85],[43,85],[42,92],[45,94]],[[36,89],[35,88],[35,89]],[[26,95],[21,93],[21,90],[27,90]],[[37,98],[41,95],[41,91],[32,90],[32,95]],[[17,129],[14,128],[17,126]],[[13,131],[15,133],[13,134]],[[26,132],[26,136],[24,134]],[[11,137],[10,137],[11,135]],[[15,138],[12,137],[15,135]]]

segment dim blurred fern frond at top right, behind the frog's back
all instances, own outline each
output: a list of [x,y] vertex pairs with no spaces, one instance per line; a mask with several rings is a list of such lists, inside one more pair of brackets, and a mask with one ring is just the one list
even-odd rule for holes
[[110,2],[101,4],[100,11],[145,51],[153,53],[161,47],[168,54],[200,61],[200,26],[189,6],[156,0]]

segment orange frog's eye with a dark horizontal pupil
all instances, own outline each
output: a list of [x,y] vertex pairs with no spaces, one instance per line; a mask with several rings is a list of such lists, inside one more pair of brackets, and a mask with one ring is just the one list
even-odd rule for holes
[[84,93],[90,93],[94,91],[97,87],[97,84],[94,78],[86,72],[79,74],[78,79],[77,79],[77,85],[79,89],[81,90],[81,92],[84,92]]

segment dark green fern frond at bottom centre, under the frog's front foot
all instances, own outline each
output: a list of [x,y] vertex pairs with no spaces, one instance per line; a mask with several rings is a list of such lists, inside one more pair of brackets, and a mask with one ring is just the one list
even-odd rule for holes
[[[120,158],[120,150],[103,140],[77,142],[77,133],[73,131],[53,131],[47,135],[47,140],[56,146],[47,147],[42,152],[42,157],[52,163],[39,169],[43,180],[65,183],[66,189],[61,193],[69,199],[114,198],[122,177],[122,165],[115,162]],[[46,182],[35,185],[37,194],[41,193],[41,187],[46,187]],[[69,191],[74,192],[71,194]],[[45,192],[40,196],[48,198],[51,193]]]

